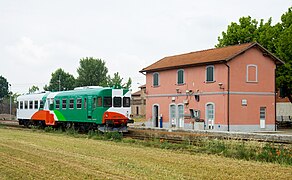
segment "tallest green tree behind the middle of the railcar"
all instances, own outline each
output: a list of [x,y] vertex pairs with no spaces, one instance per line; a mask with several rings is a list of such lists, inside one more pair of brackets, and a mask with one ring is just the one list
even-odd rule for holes
[[108,69],[101,59],[86,57],[80,59],[77,69],[77,86],[106,86]]

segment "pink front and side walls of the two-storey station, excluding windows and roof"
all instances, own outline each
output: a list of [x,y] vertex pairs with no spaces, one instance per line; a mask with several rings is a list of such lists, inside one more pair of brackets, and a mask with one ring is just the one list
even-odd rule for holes
[[[230,66],[230,130],[231,131],[260,131],[275,129],[275,64],[263,56],[256,48],[228,62]],[[257,66],[257,82],[247,82],[247,65]],[[153,87],[153,73],[146,74],[147,104],[146,119],[149,125],[155,124],[153,105],[159,106],[159,115],[163,117],[163,127],[170,127],[170,105],[183,104],[184,114],[189,109],[199,109],[201,119],[206,119],[206,104],[215,106],[214,129],[227,130],[227,84],[228,68],[225,64],[214,64],[214,82],[205,82],[206,66],[184,68],[185,83],[177,85],[177,70],[160,71],[159,86]],[[255,71],[250,71],[255,76]],[[219,84],[222,84],[220,87]],[[187,93],[188,92],[192,93]],[[199,95],[196,101],[194,95]],[[188,104],[185,104],[188,100]],[[242,105],[242,100],[247,105]],[[266,107],[265,128],[260,128],[260,107]],[[179,124],[176,124],[178,127]],[[192,120],[185,116],[184,128],[192,128]]]

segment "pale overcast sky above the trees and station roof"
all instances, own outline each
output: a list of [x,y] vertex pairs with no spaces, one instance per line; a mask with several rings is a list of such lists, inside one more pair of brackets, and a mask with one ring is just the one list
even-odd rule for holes
[[213,48],[231,22],[272,17],[291,0],[0,0],[0,75],[14,93],[42,89],[58,68],[77,77],[83,57],[145,83],[142,68],[170,55]]

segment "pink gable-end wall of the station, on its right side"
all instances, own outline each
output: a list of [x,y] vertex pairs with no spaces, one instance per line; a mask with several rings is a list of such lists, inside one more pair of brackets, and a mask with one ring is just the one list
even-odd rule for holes
[[[275,63],[257,48],[231,60],[230,125],[260,126],[260,107],[266,107],[266,128],[275,130]],[[247,66],[257,66],[257,82],[247,82]],[[247,100],[247,105],[242,105]],[[253,128],[254,129],[254,128]]]

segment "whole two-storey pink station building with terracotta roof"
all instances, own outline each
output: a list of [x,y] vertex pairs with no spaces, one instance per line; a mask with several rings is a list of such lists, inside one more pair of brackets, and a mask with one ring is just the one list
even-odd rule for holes
[[146,74],[146,126],[275,131],[275,70],[258,43],[165,57]]

